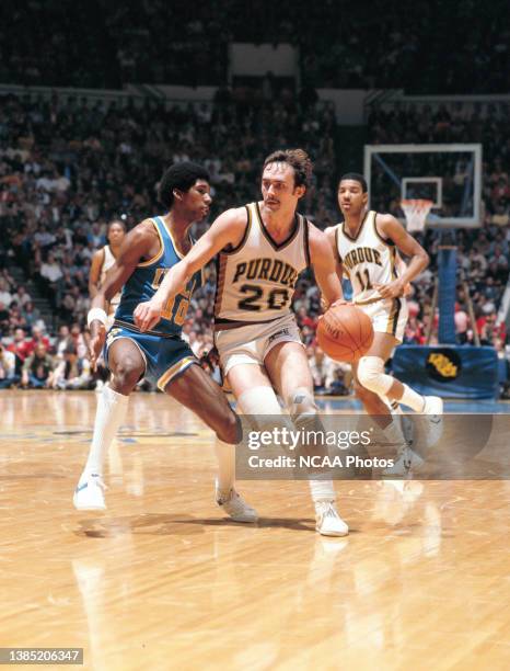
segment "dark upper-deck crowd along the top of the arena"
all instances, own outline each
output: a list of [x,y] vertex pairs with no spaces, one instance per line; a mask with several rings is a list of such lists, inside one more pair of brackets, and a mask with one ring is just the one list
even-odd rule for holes
[[219,86],[232,42],[287,42],[315,87],[506,92],[507,14],[505,0],[3,0],[0,81]]

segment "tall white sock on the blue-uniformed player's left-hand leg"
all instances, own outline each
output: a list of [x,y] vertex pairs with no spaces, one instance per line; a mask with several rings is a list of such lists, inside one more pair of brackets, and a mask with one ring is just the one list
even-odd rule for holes
[[103,387],[97,399],[95,412],[94,435],[86,459],[86,474],[103,475],[103,464],[106,452],[112,444],[120,424],[126,419],[129,396],[118,394],[108,386]]

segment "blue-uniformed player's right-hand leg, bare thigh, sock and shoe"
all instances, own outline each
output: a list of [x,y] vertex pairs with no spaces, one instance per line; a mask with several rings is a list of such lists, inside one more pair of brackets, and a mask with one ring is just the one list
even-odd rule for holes
[[236,522],[256,522],[257,512],[234,488],[235,445],[241,441],[241,422],[221,388],[200,366],[189,365],[171,379],[165,393],[195,412],[217,435],[219,505]]

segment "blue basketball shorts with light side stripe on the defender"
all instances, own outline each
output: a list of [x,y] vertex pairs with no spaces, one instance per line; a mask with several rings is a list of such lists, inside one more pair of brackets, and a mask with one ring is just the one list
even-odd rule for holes
[[166,385],[178,377],[190,365],[198,363],[189,345],[179,338],[164,338],[150,333],[139,333],[114,326],[106,336],[104,360],[108,365],[108,350],[112,344],[120,338],[131,340],[140,350],[146,371],[143,377],[158,385],[162,391]]

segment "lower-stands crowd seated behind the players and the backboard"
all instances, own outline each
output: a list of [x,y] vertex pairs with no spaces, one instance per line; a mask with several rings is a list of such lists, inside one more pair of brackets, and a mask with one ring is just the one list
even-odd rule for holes
[[[486,126],[494,135],[486,133]],[[457,234],[459,266],[470,278],[476,323],[471,321],[470,304],[460,284],[455,325],[460,343],[473,343],[476,331],[483,344],[503,352],[507,334],[496,323],[496,314],[509,272],[510,186],[505,166],[510,141],[499,109],[487,107],[483,114],[475,111],[467,116],[461,107],[375,110],[368,133],[375,144],[437,141],[440,137],[441,141],[455,137],[484,144],[484,228]],[[254,104],[222,89],[212,105],[170,109],[137,101],[126,106],[91,104],[57,95],[47,101],[0,98],[0,384],[7,386],[7,379],[22,387],[93,384],[84,328],[91,259],[105,244],[107,223],[114,216],[121,216],[130,228],[161,212],[155,193],[167,164],[189,158],[208,167],[216,215],[258,197],[260,166],[275,147],[304,146],[314,159],[315,178],[301,209],[325,227],[339,217],[336,170],[332,170],[336,162],[334,137],[331,107],[312,103],[304,113],[292,92],[285,90],[276,100]],[[206,226],[198,224],[195,236]],[[438,238],[429,231],[422,241],[432,263],[414,285],[405,338],[408,343],[424,343],[428,326],[438,319],[431,314]],[[24,282],[14,280],[14,268],[22,269],[25,281],[32,281],[31,286],[46,296],[49,319],[34,307],[34,296]],[[212,265],[206,277],[184,326],[185,337],[199,356],[212,346]],[[320,296],[310,273],[298,285],[293,308],[309,348],[316,388],[345,391],[348,369],[316,348]],[[9,352],[15,354],[13,376]],[[48,355],[54,357],[51,365]]]

